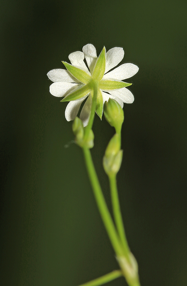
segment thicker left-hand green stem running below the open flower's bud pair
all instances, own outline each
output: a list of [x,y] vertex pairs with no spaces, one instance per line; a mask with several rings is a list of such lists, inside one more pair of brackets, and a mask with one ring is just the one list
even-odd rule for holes
[[121,247],[121,243],[119,241],[119,237],[117,235],[115,225],[112,221],[111,215],[110,215],[109,210],[107,208],[107,204],[105,202],[105,198],[103,196],[101,186],[99,184],[99,180],[98,180],[97,174],[95,172],[95,168],[94,168],[94,164],[92,161],[90,149],[84,147],[83,152],[84,152],[86,167],[88,170],[88,175],[89,175],[90,182],[92,184],[92,188],[94,191],[95,200],[97,202],[97,206],[99,208],[99,212],[101,214],[101,218],[102,218],[103,223],[105,225],[105,228],[107,230],[109,239],[111,241],[111,244],[114,248],[116,255],[123,255],[123,249]]

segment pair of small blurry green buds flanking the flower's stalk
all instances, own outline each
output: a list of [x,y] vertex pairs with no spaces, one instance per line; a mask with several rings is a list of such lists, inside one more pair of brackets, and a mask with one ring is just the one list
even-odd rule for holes
[[72,125],[73,133],[75,135],[75,142],[80,147],[92,148],[94,146],[94,133],[92,130],[89,131],[88,136],[84,138],[84,127],[82,120],[78,117],[75,118]]

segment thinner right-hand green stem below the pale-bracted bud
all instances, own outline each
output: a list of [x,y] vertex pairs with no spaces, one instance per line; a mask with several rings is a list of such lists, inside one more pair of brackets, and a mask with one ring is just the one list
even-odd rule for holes
[[124,255],[127,261],[130,263],[130,259],[129,259],[130,250],[129,250],[129,246],[127,243],[127,238],[125,236],[125,229],[123,226],[123,219],[121,216],[119,197],[118,197],[118,192],[117,192],[116,174],[109,175],[109,182],[110,182],[111,201],[112,201],[115,225],[119,233],[121,243],[123,245]]

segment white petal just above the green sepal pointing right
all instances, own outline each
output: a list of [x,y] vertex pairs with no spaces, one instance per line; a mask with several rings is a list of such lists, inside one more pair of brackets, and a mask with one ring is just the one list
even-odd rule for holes
[[139,67],[133,63],[123,63],[123,65],[120,65],[119,67],[113,69],[113,71],[105,74],[103,79],[115,78],[116,80],[125,80],[134,76],[138,70]]

